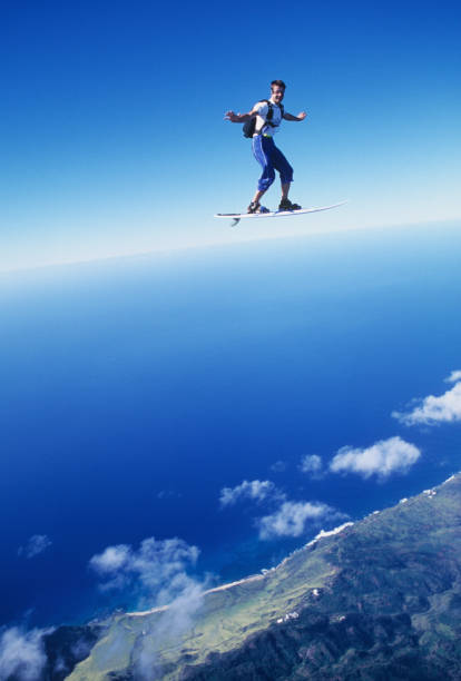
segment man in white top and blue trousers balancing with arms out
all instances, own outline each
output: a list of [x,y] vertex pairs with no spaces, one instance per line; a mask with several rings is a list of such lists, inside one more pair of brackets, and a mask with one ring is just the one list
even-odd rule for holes
[[[307,114],[302,111],[292,116],[284,110],[282,100],[285,95],[283,80],[273,80],[271,83],[271,99],[258,101],[248,114],[234,114],[227,111],[225,119],[230,122],[242,122],[249,126],[255,120],[253,131],[253,155],[263,167],[263,174],[257,184],[256,194],[249,204],[248,213],[267,213],[267,208],[261,205],[259,199],[271,187],[275,179],[275,170],[279,172],[282,184],[282,199],[278,210],[300,210],[301,206],[292,204],[288,199],[290,185],[293,181],[293,168],[274,144],[274,135],[278,131],[282,119],[304,120]],[[251,132],[251,128],[248,128]],[[245,132],[246,134],[246,132]]]

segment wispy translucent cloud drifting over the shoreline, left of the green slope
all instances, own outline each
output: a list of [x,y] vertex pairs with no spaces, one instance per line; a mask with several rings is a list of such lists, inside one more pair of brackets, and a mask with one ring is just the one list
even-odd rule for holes
[[195,565],[199,550],[180,539],[141,542],[138,550],[127,544],[108,546],[89,561],[101,578],[100,588],[131,589],[160,603],[173,601],[190,584],[186,569]]

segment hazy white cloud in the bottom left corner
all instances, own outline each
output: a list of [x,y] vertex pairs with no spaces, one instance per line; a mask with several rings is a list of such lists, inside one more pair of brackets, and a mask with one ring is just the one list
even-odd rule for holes
[[39,681],[47,663],[43,634],[50,632],[50,629],[26,632],[18,626],[4,630],[0,635],[0,679]]

